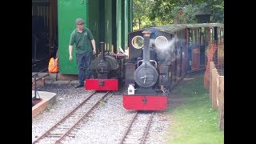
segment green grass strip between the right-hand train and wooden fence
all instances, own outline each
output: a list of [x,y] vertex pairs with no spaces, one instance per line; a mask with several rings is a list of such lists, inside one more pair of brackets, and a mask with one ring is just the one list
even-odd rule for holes
[[168,142],[224,143],[224,131],[218,130],[218,110],[211,108],[209,90],[203,86],[203,76],[200,73],[184,78],[174,88],[170,96],[170,108],[167,109],[172,121]]

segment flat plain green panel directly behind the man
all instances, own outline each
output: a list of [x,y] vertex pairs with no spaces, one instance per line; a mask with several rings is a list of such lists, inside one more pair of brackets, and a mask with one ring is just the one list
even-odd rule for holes
[[76,28],[76,18],[83,18],[86,20],[85,26],[88,25],[87,0],[58,0],[58,58],[61,74],[78,74],[75,46],[73,47],[73,61],[69,60],[70,34]]

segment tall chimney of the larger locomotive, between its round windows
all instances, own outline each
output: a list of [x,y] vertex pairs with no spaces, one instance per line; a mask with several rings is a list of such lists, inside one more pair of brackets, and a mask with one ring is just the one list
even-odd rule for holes
[[150,64],[150,31],[143,31],[144,46],[143,46],[143,62]]

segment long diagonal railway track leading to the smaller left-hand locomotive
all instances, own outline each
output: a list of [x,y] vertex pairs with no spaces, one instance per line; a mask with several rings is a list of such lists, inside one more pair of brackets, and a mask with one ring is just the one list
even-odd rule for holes
[[64,118],[32,143],[61,143],[66,137],[74,138],[75,135],[72,133],[74,129],[79,126],[79,123],[82,122],[86,116],[90,114],[96,106],[98,106],[98,103],[101,102],[103,98],[106,98],[108,94],[109,92],[102,94],[94,91],[89,97],[76,106],[74,110],[69,114],[66,114]]

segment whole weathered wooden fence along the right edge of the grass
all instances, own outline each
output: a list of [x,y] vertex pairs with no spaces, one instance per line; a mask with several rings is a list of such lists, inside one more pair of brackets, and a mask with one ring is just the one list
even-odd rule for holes
[[214,62],[210,62],[210,99],[218,110],[218,130],[224,130],[224,76],[219,76]]

